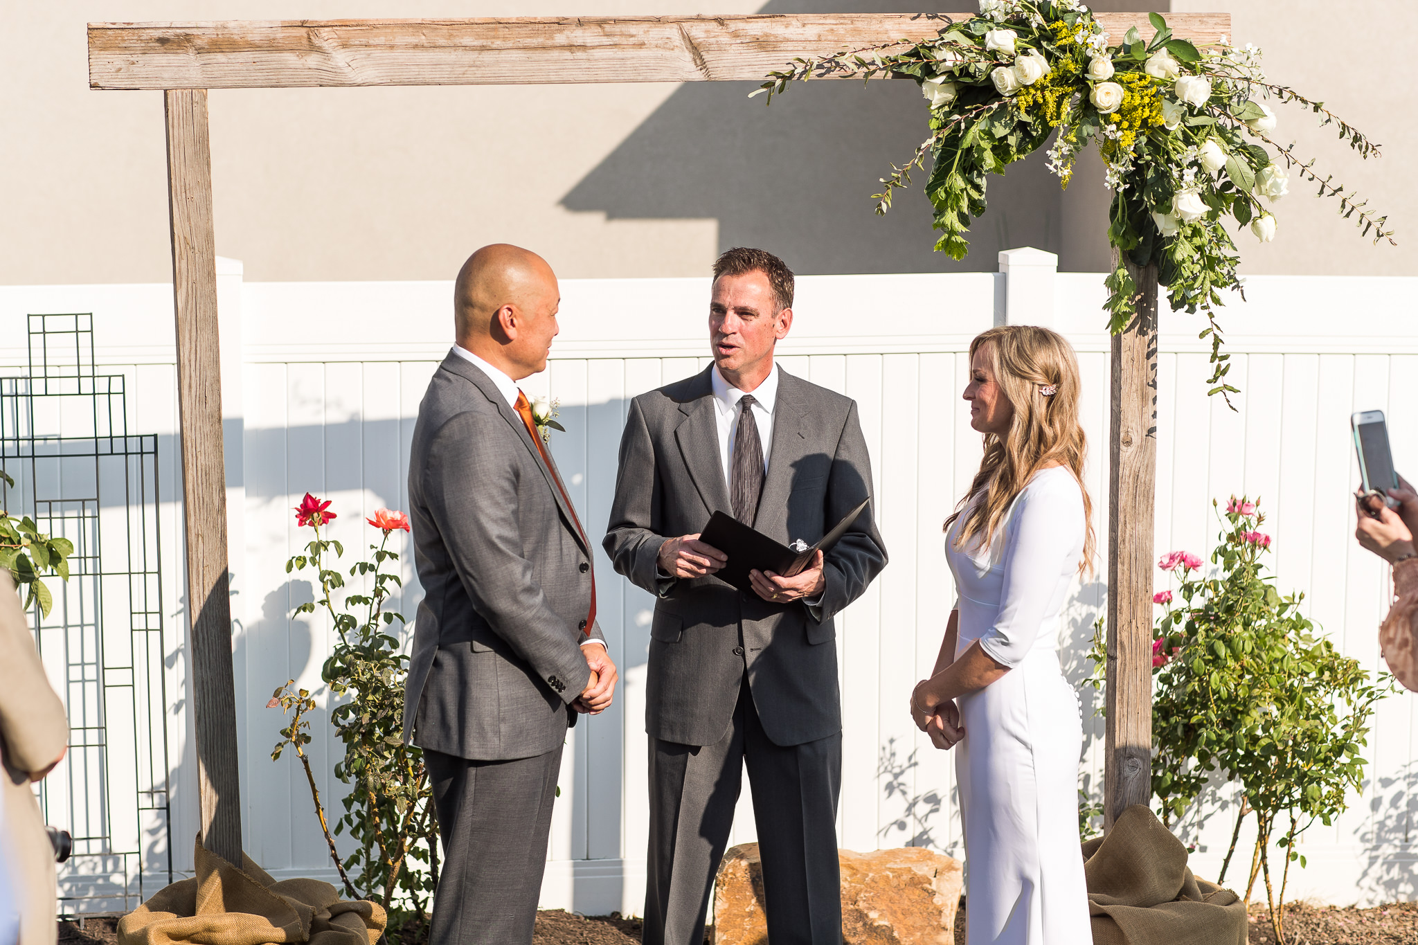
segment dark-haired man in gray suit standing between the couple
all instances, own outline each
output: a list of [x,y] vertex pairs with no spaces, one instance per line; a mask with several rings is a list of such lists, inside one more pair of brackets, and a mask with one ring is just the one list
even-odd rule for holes
[[740,772],[749,769],[773,945],[841,942],[837,802],[842,713],[834,615],[885,567],[871,507],[794,577],[715,577],[715,511],[783,544],[818,541],[871,496],[851,398],[773,363],[793,326],[793,272],[761,249],[713,266],[715,363],[637,397],[604,547],[657,595],[649,732],[647,945],[699,945]]

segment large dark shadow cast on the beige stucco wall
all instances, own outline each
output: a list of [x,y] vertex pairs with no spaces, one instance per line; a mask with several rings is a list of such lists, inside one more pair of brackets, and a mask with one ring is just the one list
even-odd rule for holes
[[[959,11],[973,3],[770,0],[761,13]],[[1102,7],[1109,4],[1102,3]],[[1167,7],[1168,4],[1161,4]],[[1096,156],[1069,193],[1044,153],[990,176],[988,211],[968,234],[970,255],[934,252],[922,187],[896,194],[885,217],[871,194],[892,163],[926,136],[926,102],[910,81],[808,82],[763,106],[753,82],[688,82],[576,184],[562,204],[608,218],[718,218],[719,251],[763,247],[798,273],[994,272],[998,252],[1037,247],[1065,271],[1107,268],[1107,194]]]

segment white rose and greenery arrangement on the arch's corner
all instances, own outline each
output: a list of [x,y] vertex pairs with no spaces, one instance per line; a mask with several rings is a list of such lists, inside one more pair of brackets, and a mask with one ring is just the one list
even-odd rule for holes
[[[930,102],[930,136],[872,194],[876,213],[891,208],[892,191],[910,183],[910,170],[933,160],[926,196],[934,228],[944,235],[936,249],[953,259],[968,251],[970,224],[986,210],[986,174],[1004,169],[1051,139],[1049,170],[1068,187],[1073,163],[1096,145],[1113,191],[1109,244],[1119,262],[1107,276],[1109,329],[1132,320],[1136,268],[1157,264],[1159,282],[1173,309],[1205,313],[1212,339],[1211,392],[1235,391],[1212,306],[1219,292],[1239,289],[1239,258],[1227,221],[1249,225],[1256,239],[1275,239],[1272,208],[1289,193],[1292,177],[1339,198],[1340,214],[1356,218],[1374,242],[1388,239],[1387,217],[1374,217],[1333,176],[1320,177],[1314,162],[1273,137],[1276,116],[1263,99],[1299,102],[1337,125],[1339,137],[1361,157],[1378,146],[1322,102],[1268,82],[1261,52],[1225,43],[1198,48],[1174,37],[1167,21],[1149,14],[1144,38],[1134,27],[1110,43],[1093,14],[1078,0],[981,0],[980,16],[964,23],[949,17],[937,38],[899,41],[821,60],[794,60],[771,72],[752,95],[781,94],[794,79],[873,75],[913,78]],[[906,47],[906,48],[903,48]]]

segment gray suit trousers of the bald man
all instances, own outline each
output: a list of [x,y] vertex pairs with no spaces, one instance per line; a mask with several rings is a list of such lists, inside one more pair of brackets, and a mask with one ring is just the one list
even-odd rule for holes
[[513,761],[424,749],[444,847],[430,945],[532,945],[562,748]]

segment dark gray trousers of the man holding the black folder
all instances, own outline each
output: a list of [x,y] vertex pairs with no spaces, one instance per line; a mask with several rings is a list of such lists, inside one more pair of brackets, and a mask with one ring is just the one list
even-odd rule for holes
[[764,734],[747,680],[712,745],[649,738],[645,945],[699,945],[747,764],[773,945],[842,941],[837,800],[842,732],[800,745]]

